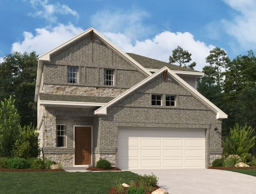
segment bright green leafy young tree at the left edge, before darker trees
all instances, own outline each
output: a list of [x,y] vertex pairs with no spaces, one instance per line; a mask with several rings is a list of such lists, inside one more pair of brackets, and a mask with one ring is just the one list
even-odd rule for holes
[[0,105],[0,157],[12,156],[12,148],[18,140],[20,116],[14,106],[14,100],[10,97],[4,99]]

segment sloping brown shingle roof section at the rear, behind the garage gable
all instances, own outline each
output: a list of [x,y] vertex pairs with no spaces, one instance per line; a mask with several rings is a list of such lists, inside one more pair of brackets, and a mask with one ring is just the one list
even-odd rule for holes
[[132,57],[135,61],[140,63],[140,65],[142,65],[146,69],[161,69],[164,66],[166,66],[169,69],[174,70],[174,71],[200,72],[200,71],[196,71],[196,70],[189,69],[189,68],[186,68],[186,67],[180,67],[179,65],[166,63],[164,61],[158,61],[156,59],[151,59],[151,58],[144,57],[144,56],[141,56],[141,55],[136,55],[134,53],[126,53],[126,54],[128,54],[130,57]]

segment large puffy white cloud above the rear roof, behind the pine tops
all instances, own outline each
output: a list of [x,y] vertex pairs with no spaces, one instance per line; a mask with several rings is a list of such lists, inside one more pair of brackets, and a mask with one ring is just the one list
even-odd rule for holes
[[172,55],[172,50],[176,49],[177,46],[182,47],[184,50],[188,50],[192,54],[192,61],[195,61],[195,69],[202,71],[205,65],[209,65],[205,62],[205,58],[209,55],[210,50],[214,48],[212,45],[206,45],[204,42],[194,40],[194,37],[189,32],[173,33],[173,32],[162,32],[157,34],[152,40],[147,39],[143,41],[136,41],[133,45],[130,38],[124,34],[116,33],[104,33],[110,41],[116,46],[121,48],[124,52],[136,53],[160,61],[169,61],[169,56]]

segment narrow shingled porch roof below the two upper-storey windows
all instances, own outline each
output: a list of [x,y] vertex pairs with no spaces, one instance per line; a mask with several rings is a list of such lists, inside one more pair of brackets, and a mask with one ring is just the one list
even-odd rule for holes
[[108,103],[113,97],[101,96],[74,96],[74,95],[56,95],[39,93],[40,100],[46,101],[69,101],[69,102],[92,102],[92,103]]

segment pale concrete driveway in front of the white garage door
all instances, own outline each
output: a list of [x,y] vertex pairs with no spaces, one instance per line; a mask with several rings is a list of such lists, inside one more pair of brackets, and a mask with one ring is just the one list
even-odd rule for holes
[[256,194],[256,177],[227,170],[128,170],[155,174],[158,186],[169,194]]

